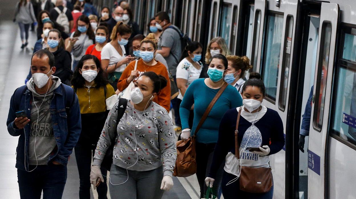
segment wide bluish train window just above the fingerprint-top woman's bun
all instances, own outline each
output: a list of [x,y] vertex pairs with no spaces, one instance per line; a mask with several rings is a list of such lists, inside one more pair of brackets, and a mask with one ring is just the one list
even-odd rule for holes
[[264,31],[264,52],[261,71],[266,86],[266,99],[275,103],[277,95],[279,59],[283,32],[283,15],[270,13],[267,16],[267,28]]

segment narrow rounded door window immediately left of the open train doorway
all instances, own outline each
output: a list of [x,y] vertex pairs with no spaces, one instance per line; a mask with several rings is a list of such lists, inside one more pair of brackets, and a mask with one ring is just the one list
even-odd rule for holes
[[286,24],[286,37],[284,38],[284,59],[281,73],[281,86],[279,93],[279,109],[284,111],[286,109],[287,101],[287,89],[288,89],[288,77],[289,77],[289,63],[290,63],[290,51],[292,50],[292,38],[293,38],[293,16],[287,17]]

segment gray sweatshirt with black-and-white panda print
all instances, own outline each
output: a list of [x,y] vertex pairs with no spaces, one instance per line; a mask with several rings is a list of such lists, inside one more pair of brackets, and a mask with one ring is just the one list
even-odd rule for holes
[[94,155],[100,165],[115,137],[113,163],[133,171],[150,171],[163,164],[163,175],[172,176],[177,150],[173,124],[168,112],[151,101],[148,108],[138,111],[130,100],[124,115],[116,121],[118,103],[110,110]]

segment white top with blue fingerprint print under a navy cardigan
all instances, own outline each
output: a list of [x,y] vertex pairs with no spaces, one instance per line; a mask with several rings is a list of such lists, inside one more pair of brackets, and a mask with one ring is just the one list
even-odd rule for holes
[[[240,107],[236,108],[237,111],[239,111],[239,109]],[[244,149],[245,147],[260,147],[262,145],[261,131],[254,124],[260,120],[266,112],[267,107],[262,106],[262,109],[257,112],[256,116],[256,113],[247,112],[245,111],[244,106],[242,106],[241,117],[244,117],[244,119],[251,122],[251,126],[245,131],[244,137],[240,143],[239,152],[241,166],[254,168],[269,167],[269,156],[260,156],[257,153]],[[239,176],[240,174],[239,161],[231,152],[226,155],[224,170],[235,176]]]

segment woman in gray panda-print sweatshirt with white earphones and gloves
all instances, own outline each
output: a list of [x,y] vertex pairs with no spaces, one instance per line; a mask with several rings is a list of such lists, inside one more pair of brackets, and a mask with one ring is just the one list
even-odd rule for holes
[[166,109],[151,101],[166,85],[167,79],[162,75],[143,73],[135,82],[120,121],[116,121],[119,102],[106,119],[90,182],[94,186],[100,180],[104,182],[100,165],[115,137],[109,178],[111,198],[157,199],[162,197],[163,190],[173,187],[177,150],[172,120]]

